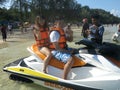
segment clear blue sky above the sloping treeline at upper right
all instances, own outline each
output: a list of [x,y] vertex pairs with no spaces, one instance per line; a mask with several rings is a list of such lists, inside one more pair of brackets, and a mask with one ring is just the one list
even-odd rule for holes
[[103,9],[120,17],[120,0],[76,0],[82,6],[93,9]]

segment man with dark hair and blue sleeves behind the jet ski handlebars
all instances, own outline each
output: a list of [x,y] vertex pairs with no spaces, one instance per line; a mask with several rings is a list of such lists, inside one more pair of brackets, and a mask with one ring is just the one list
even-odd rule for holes
[[104,26],[102,26],[99,22],[99,15],[93,14],[91,16],[91,20],[93,25],[90,26],[89,30],[87,30],[88,38],[84,38],[75,44],[84,44],[92,48],[96,48],[102,44]]

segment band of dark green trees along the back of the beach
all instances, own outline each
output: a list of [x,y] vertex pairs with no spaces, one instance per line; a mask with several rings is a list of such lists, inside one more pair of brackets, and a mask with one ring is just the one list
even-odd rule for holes
[[[0,0],[4,1],[4,0]],[[82,22],[84,17],[91,21],[93,13],[100,14],[100,20],[104,24],[119,23],[120,18],[115,17],[102,9],[90,9],[88,6],[81,6],[76,0],[11,0],[13,4],[9,10],[0,9],[0,20],[8,21],[29,21],[34,22],[37,15],[47,17],[48,21],[53,22],[56,17],[63,18],[66,22]]]

